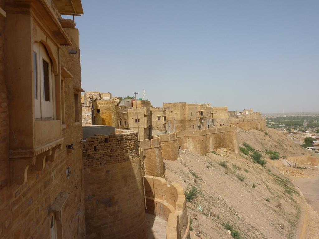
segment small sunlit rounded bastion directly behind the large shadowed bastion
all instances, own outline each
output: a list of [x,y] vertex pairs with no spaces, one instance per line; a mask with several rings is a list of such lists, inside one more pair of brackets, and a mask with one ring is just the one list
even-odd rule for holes
[[163,156],[159,138],[140,142],[145,165],[145,175],[162,177],[164,175]]

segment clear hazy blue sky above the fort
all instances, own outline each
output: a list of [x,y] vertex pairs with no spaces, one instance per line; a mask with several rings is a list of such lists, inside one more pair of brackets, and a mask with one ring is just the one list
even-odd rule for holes
[[153,106],[319,111],[319,1],[89,1],[82,88]]

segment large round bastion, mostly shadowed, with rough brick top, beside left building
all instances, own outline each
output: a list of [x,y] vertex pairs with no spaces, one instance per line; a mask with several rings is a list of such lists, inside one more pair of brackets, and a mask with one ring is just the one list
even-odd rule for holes
[[89,137],[83,148],[87,238],[145,238],[137,132]]

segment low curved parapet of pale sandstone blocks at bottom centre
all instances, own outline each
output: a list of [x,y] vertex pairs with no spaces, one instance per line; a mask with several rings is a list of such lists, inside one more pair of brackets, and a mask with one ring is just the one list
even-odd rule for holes
[[189,218],[183,188],[160,177],[144,176],[147,212],[167,221],[167,239],[188,239]]

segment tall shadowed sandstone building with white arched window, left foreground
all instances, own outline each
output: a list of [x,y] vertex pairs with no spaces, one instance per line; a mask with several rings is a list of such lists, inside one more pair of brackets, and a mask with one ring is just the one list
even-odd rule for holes
[[81,1],[0,7],[0,238],[85,238]]

